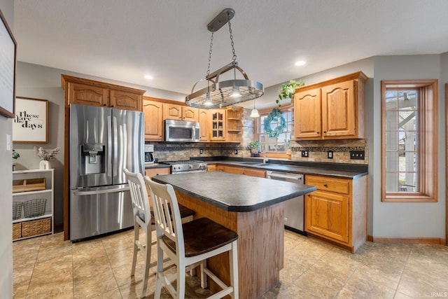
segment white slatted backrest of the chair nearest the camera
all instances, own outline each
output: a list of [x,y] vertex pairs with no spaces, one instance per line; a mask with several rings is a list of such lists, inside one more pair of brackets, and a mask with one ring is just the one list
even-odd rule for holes
[[173,186],[157,183],[151,180],[148,176],[145,176],[144,180],[151,191],[155,225],[158,228],[158,238],[161,237],[162,234],[165,235],[176,243],[176,255],[185,255],[181,212],[179,211],[179,203],[177,202]]

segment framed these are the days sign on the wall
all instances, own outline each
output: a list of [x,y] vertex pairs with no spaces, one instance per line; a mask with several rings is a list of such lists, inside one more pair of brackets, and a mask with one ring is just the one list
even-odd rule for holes
[[15,98],[13,142],[48,144],[48,101],[46,99]]

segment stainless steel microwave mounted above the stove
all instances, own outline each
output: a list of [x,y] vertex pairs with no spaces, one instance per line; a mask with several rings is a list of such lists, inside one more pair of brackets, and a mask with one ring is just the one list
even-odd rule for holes
[[199,142],[200,125],[193,121],[165,120],[165,141]]

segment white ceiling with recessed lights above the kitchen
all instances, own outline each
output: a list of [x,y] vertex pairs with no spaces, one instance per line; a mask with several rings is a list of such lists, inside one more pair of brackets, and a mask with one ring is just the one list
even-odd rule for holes
[[[376,55],[448,52],[447,0],[15,0],[18,61],[189,94],[224,8],[239,66],[265,88]],[[228,25],[213,44],[211,71],[232,61]]]

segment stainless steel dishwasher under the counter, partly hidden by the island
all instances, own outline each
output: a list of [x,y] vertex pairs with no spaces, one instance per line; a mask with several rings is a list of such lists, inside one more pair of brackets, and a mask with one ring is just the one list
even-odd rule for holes
[[[294,174],[290,172],[266,172],[267,179],[274,179],[277,181],[288,181],[291,183],[304,184],[303,174]],[[285,202],[285,228],[287,230],[292,230],[293,232],[298,232],[300,235],[308,235],[304,231],[304,200],[303,195],[291,198]]]

